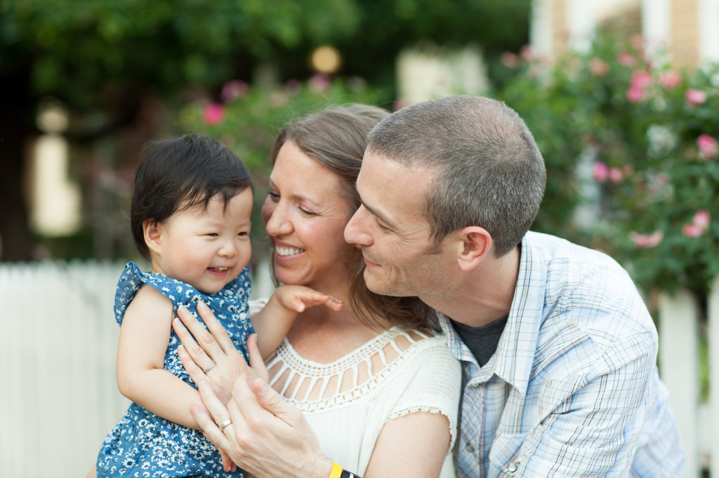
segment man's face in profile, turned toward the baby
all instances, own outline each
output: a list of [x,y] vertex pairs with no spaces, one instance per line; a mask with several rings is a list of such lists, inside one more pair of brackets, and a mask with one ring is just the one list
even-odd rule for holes
[[424,215],[434,179],[431,169],[408,169],[365,153],[357,177],[362,205],[344,229],[344,238],[362,248],[365,281],[376,294],[429,297],[450,286],[452,254],[443,243],[431,248]]

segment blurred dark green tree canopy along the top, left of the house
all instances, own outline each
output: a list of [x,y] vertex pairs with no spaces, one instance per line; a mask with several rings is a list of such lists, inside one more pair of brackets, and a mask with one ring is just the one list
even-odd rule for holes
[[[402,47],[431,39],[490,52],[526,43],[529,0],[7,0],[0,4],[0,76],[29,70],[38,95],[78,108],[144,88],[172,93],[226,78],[308,76],[319,44],[343,75],[393,85]],[[492,22],[485,19],[491,18]],[[478,20],[479,19],[479,20]],[[483,27],[477,29],[477,22]]]

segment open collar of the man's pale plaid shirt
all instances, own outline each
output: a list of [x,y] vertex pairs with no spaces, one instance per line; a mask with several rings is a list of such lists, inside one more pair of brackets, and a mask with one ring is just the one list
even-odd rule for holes
[[[525,235],[521,243],[519,274],[507,325],[497,351],[484,367],[477,364],[470,349],[464,345],[457,332],[454,332],[449,319],[437,312],[439,325],[448,337],[452,355],[470,365],[467,380],[485,382],[492,378],[492,375],[497,375],[523,395],[526,393],[539,339],[546,289],[546,264],[536,258],[533,260],[533,256],[537,254],[538,251],[533,250]],[[530,284],[534,286],[530,287]]]

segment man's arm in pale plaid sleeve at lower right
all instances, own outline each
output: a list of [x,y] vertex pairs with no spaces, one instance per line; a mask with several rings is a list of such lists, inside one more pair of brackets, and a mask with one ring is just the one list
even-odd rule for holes
[[[631,469],[651,401],[654,335],[635,334],[600,357],[593,372],[546,384],[540,402],[571,390],[533,428],[508,464],[523,476],[624,476]],[[572,383],[574,382],[574,383]]]

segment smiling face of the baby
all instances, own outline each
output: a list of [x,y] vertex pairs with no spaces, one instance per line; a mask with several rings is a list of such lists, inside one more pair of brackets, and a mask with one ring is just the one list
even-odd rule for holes
[[220,291],[242,272],[252,255],[249,243],[252,190],[244,189],[223,207],[213,197],[206,209],[175,212],[157,226],[152,272],[183,281],[198,291]]

